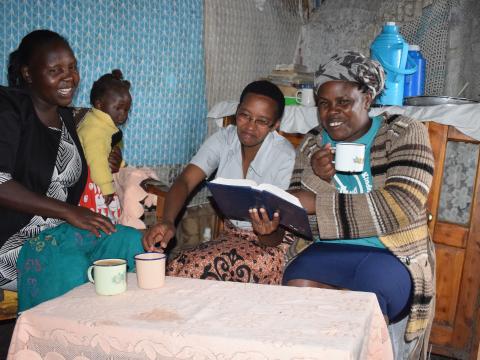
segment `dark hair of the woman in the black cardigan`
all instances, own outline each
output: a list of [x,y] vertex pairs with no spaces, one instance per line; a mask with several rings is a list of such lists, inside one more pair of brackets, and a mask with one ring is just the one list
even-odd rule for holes
[[24,87],[26,83],[21,73],[22,67],[29,65],[32,58],[45,46],[57,42],[63,43],[72,50],[67,39],[51,30],[35,30],[25,35],[18,49],[11,52],[8,58],[8,86]]

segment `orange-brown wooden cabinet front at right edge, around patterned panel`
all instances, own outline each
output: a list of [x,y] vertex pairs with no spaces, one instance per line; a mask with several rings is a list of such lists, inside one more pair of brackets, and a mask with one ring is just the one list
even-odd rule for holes
[[[428,122],[435,172],[430,189],[429,230],[435,244],[437,296],[430,343],[433,353],[458,359],[475,359],[480,342],[480,141],[462,134],[453,126]],[[447,145],[475,146],[477,163],[471,180],[468,219],[458,223],[439,216]],[[467,189],[462,189],[467,194]],[[444,215],[444,217],[446,217]]]

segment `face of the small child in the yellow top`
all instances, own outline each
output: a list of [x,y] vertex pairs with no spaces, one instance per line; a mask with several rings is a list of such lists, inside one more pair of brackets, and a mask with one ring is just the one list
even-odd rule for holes
[[126,88],[117,88],[107,91],[94,106],[110,115],[115,125],[122,125],[128,119],[128,112],[132,106],[132,97]]

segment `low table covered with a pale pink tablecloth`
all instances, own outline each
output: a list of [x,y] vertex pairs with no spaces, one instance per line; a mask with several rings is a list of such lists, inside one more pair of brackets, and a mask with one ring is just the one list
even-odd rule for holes
[[371,293],[167,277],[97,296],[92,284],[20,315],[11,360],[392,359]]

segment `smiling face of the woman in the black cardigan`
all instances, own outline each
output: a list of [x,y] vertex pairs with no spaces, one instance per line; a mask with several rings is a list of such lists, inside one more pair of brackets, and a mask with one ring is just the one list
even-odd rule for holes
[[32,97],[46,106],[68,106],[80,82],[72,49],[57,41],[37,51],[22,76]]

